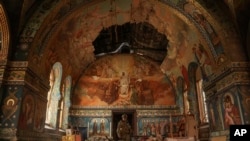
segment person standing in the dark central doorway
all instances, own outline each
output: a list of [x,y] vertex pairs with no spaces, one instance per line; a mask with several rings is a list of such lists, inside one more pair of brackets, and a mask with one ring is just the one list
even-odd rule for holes
[[118,138],[124,141],[130,141],[131,134],[131,126],[129,125],[127,118],[128,116],[123,114],[122,119],[118,122],[116,129]]

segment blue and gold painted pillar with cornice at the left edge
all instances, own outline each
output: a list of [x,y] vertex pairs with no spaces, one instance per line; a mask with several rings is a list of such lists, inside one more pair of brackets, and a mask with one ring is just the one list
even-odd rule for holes
[[48,86],[28,68],[26,61],[9,62],[6,70],[1,88],[0,140],[40,138]]

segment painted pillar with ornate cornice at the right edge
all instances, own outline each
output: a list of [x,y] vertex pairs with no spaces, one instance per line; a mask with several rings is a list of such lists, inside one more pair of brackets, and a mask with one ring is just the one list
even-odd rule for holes
[[227,136],[232,124],[250,123],[250,63],[231,62],[205,82],[210,137]]

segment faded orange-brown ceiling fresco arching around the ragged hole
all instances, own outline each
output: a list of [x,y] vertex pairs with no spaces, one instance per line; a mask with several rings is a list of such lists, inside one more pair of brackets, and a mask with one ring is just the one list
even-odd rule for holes
[[[59,30],[56,33],[55,40],[50,43],[51,50],[46,50],[49,59],[44,60],[44,64],[47,64],[45,68],[49,68],[51,65],[50,62],[54,62],[55,58],[59,58],[60,60],[61,56],[58,54],[66,53],[69,54],[70,58],[68,60],[70,61],[63,62],[63,64],[70,66],[69,69],[82,70],[81,67],[84,68],[95,60],[92,41],[96,39],[100,31],[113,24],[122,25],[125,23],[140,23],[145,21],[157,28],[159,33],[166,35],[169,41],[168,51],[165,60],[161,64],[161,69],[167,76],[173,77],[175,80],[178,76],[185,78],[182,71],[187,68],[190,62],[195,61],[192,52],[192,46],[194,44],[201,44],[204,50],[210,53],[206,43],[207,41],[204,40],[196,27],[191,26],[188,20],[183,20],[183,17],[180,17],[178,12],[171,12],[171,8],[167,7],[163,2],[154,0],[130,0],[128,2],[126,1],[126,3],[123,1],[115,1],[112,4],[108,1],[101,3],[103,6],[89,5],[86,10],[72,14],[74,16],[68,17],[67,22],[58,27]],[[110,12],[110,9],[113,11]],[[185,8],[183,10],[185,10]],[[197,9],[191,7],[187,9],[186,12],[192,15],[194,11],[197,11]],[[202,18],[204,19],[204,17]],[[175,25],[178,26],[170,23],[176,23]],[[207,26],[210,25],[207,21],[201,22],[201,24],[202,23],[206,23]],[[206,26],[204,26],[204,28],[205,27]],[[213,40],[215,42],[217,39],[216,36],[214,37],[215,33],[212,29],[210,30],[209,33],[211,33],[211,37],[214,38]],[[60,48],[58,53],[53,53],[53,50],[56,48]],[[75,49],[83,49],[83,51],[75,52],[73,51]],[[207,55],[208,58],[212,60],[212,54]],[[71,61],[76,62],[76,64],[81,64],[81,66],[71,66],[71,64],[69,65]],[[174,67],[178,62],[181,63],[180,66]],[[207,65],[207,62],[205,62],[204,65]],[[206,68],[205,70],[209,70],[207,69],[209,67],[204,67]],[[206,72],[208,73],[207,75],[210,74],[209,72]],[[172,83],[175,83],[174,80]]]

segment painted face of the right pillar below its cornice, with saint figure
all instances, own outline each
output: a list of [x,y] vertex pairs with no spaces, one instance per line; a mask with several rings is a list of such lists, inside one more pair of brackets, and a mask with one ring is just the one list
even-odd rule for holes
[[249,123],[249,87],[235,86],[208,102],[211,130],[228,130],[230,125]]

